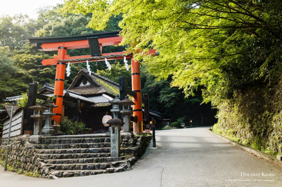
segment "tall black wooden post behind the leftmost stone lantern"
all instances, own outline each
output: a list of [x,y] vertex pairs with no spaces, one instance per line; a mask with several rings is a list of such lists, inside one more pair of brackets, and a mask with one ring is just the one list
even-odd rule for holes
[[36,104],[37,85],[38,82],[35,81],[29,84],[27,93],[28,99],[26,107],[26,117],[24,119],[24,134],[33,135],[33,118],[30,117],[31,115],[33,115],[33,110],[28,108]]

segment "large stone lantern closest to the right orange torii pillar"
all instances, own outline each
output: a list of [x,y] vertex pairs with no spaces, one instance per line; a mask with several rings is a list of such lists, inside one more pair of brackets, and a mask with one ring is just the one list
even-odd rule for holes
[[125,96],[125,99],[122,101],[119,101],[119,105],[122,106],[121,114],[123,115],[123,132],[121,133],[122,139],[131,139],[134,137],[134,134],[130,132],[130,115],[133,114],[133,111],[131,110],[131,105],[135,105],[133,101],[128,99],[128,96]]

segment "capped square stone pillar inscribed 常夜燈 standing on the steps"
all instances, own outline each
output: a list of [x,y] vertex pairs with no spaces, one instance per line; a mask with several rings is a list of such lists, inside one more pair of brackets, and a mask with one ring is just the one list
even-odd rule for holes
[[111,125],[111,157],[120,157],[120,125],[124,123],[121,119],[110,119],[107,124]]

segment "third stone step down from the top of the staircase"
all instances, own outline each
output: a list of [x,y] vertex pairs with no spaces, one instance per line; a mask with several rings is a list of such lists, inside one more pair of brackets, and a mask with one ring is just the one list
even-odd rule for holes
[[66,143],[37,145],[37,149],[74,149],[74,148],[103,148],[110,147],[110,142],[102,143]]

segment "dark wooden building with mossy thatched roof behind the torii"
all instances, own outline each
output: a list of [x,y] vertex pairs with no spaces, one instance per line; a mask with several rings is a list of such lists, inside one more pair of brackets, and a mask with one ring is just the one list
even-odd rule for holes
[[[54,86],[45,83],[38,92],[52,97]],[[108,101],[116,94],[119,94],[119,84],[93,72],[89,75],[86,69],[82,69],[70,87],[64,90],[63,96],[64,101],[75,103],[76,107],[64,106],[62,116],[83,121],[93,133],[104,133],[108,128],[103,126],[102,117],[111,115]],[[14,102],[20,98],[21,96],[8,97],[6,100]]]

